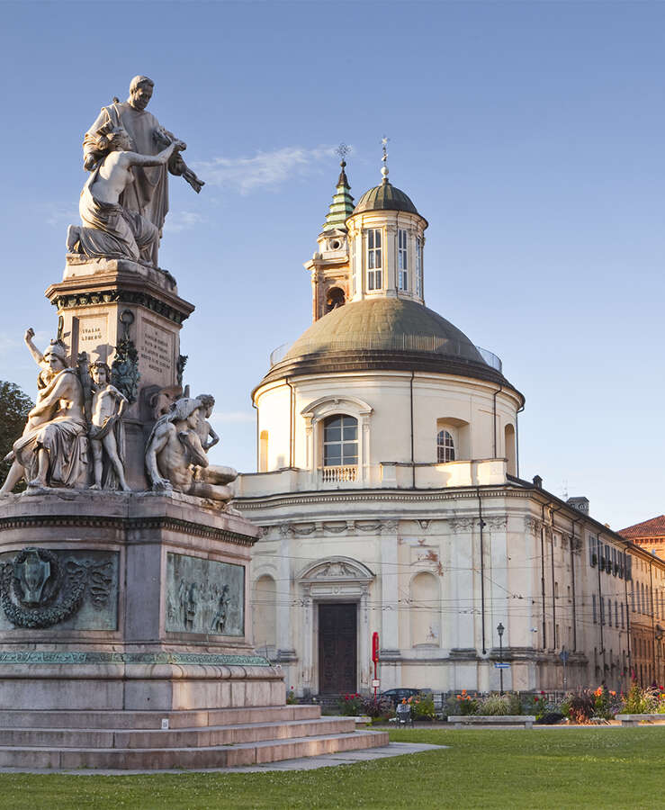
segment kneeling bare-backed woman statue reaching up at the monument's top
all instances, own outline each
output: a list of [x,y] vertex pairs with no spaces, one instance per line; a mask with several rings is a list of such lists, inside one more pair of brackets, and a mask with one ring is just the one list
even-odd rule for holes
[[78,211],[83,227],[70,225],[67,250],[91,258],[123,257],[142,262],[141,253],[159,241],[159,229],[138,211],[120,204],[121,195],[133,182],[136,166],[165,166],[177,148],[172,141],[158,155],[140,155],[131,150],[131,139],[121,127],[108,132],[111,151],[94,169],[83,187]]

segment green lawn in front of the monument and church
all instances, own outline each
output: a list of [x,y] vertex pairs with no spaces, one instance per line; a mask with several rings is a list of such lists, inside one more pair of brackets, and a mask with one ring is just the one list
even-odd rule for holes
[[451,746],[309,771],[0,775],[0,807],[664,807],[663,728],[391,731]]

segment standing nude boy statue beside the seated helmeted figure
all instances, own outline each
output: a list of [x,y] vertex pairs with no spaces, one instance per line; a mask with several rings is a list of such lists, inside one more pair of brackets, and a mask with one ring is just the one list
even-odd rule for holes
[[[93,405],[88,436],[94,464],[94,484],[90,489],[117,489],[117,482],[121,490],[129,492],[121,458],[124,446],[121,419],[128,405],[127,397],[111,384],[111,369],[101,360],[90,366],[90,376],[93,378]],[[103,480],[104,453],[108,459],[108,470]]]

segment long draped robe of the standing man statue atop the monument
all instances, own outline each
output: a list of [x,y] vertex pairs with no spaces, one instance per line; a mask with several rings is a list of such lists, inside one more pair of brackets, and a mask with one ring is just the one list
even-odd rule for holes
[[[96,153],[97,130],[105,123],[112,121],[114,126],[122,126],[133,141],[132,150],[140,155],[157,155],[160,147],[155,139],[155,132],[160,129],[157,118],[146,110],[135,110],[130,103],[113,103],[102,107],[102,112],[85,133],[83,141],[84,155]],[[175,157],[177,159],[177,156]],[[168,175],[166,166],[132,166],[134,180],[121,193],[118,201],[121,208],[137,211],[142,217],[152,222],[161,234],[168,211]],[[140,246],[139,246],[140,247]],[[142,248],[141,257],[157,267],[157,249],[159,240]]]

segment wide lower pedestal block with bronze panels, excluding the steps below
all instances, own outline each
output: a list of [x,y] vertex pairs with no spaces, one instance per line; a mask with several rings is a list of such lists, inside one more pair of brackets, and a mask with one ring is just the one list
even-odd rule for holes
[[283,704],[253,653],[256,528],[180,494],[42,491],[0,501],[0,708]]

